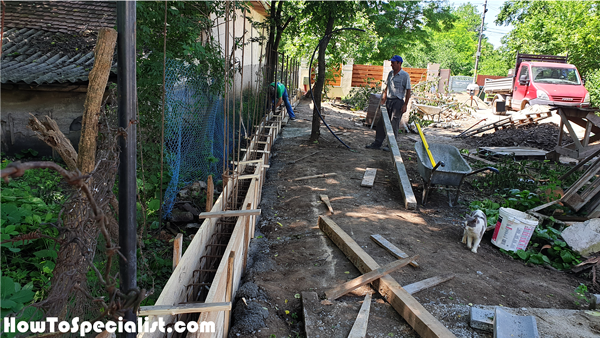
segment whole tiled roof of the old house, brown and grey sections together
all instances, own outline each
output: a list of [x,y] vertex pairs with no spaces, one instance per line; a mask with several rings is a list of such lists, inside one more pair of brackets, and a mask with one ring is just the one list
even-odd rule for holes
[[[41,85],[88,81],[97,31],[115,26],[116,3],[5,3],[0,82]],[[112,72],[116,73],[116,56]]]

